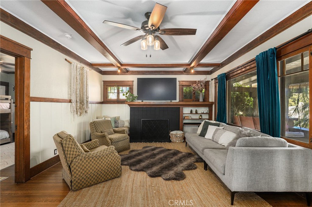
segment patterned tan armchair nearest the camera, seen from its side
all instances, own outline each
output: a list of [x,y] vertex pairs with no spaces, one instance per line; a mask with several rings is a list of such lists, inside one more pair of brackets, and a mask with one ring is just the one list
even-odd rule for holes
[[53,136],[63,165],[63,178],[72,191],[121,175],[120,156],[114,146],[100,146],[99,140],[79,145],[61,131]]

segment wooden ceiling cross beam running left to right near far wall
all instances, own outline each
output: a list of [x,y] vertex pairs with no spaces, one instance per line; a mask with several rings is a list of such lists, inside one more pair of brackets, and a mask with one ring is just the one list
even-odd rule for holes
[[[93,67],[111,68],[116,67],[112,63],[91,63]],[[218,67],[221,63],[199,63],[196,67]],[[160,63],[160,64],[145,64],[145,63],[122,63],[121,68],[179,68],[191,67],[189,63]]]

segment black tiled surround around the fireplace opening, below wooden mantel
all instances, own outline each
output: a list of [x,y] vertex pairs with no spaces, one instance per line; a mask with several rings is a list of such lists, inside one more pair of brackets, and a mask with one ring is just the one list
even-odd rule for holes
[[[141,119],[168,119],[169,131],[179,130],[180,108],[179,107],[130,107],[130,142],[169,142],[170,137],[165,140],[153,138],[142,140]],[[169,133],[168,131],[168,133]]]

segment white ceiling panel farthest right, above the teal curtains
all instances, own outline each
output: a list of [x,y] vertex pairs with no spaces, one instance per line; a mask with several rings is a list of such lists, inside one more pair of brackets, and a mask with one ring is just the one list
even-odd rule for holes
[[[308,2],[310,1],[259,1],[202,62],[222,62]],[[306,30],[309,28],[311,25],[307,25]]]

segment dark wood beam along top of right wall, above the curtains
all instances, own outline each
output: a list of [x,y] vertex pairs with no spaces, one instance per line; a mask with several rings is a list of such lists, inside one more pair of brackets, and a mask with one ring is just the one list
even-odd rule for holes
[[[282,31],[286,30],[290,26],[298,23],[299,21],[305,19],[306,17],[312,14],[312,2],[307,3],[305,6],[301,7],[290,16],[286,17],[284,20],[280,21],[278,24],[267,30],[265,33],[261,34],[256,39],[252,40],[250,43],[246,44],[236,53],[232,54],[230,57],[225,59],[221,62],[221,66],[215,67],[211,70],[211,74],[215,73],[216,71],[220,70],[222,67],[226,66],[230,62],[233,62],[237,58],[241,57],[245,53],[248,53],[252,49],[258,47],[262,43],[266,42],[267,40],[271,39],[275,35],[281,33]],[[307,29],[309,29],[309,25],[307,25]]]

